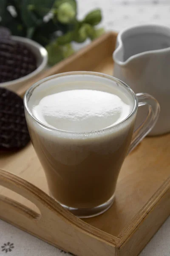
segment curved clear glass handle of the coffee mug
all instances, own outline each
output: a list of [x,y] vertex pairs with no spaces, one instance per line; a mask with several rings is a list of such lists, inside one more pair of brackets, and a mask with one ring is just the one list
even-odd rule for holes
[[152,130],[159,118],[160,106],[159,103],[153,96],[147,93],[137,93],[138,107],[148,105],[148,113],[146,119],[139,125],[138,128],[133,132],[132,141],[127,154],[129,154],[143,138]]

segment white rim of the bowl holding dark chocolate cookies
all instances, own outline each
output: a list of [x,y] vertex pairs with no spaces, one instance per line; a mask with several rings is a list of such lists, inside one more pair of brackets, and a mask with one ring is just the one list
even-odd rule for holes
[[40,52],[41,56],[42,56],[42,62],[40,63],[39,67],[36,68],[36,70],[29,73],[28,75],[22,76],[18,79],[15,79],[15,80],[0,83],[0,87],[5,87],[5,86],[8,86],[8,85],[14,85],[14,84],[17,84],[17,83],[21,83],[23,81],[26,81],[27,79],[30,79],[31,77],[36,76],[38,73],[40,73],[46,67],[47,62],[48,62],[48,52],[41,44],[39,44],[36,41],[33,41],[29,38],[24,38],[24,37],[21,37],[21,36],[13,35],[13,36],[11,36],[11,38],[14,39],[15,41],[18,41],[18,42],[23,42],[23,43],[30,44],[32,47],[37,49]]

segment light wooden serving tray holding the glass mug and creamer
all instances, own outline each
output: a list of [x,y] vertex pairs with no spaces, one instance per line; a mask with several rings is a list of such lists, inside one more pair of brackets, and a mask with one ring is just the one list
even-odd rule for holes
[[[115,33],[105,34],[39,79],[71,70],[111,75],[115,41]],[[31,143],[1,154],[0,168],[8,172],[0,170],[0,218],[78,256],[136,256],[170,214],[169,153],[170,134],[144,139],[123,164],[113,206],[83,221],[48,196]]]

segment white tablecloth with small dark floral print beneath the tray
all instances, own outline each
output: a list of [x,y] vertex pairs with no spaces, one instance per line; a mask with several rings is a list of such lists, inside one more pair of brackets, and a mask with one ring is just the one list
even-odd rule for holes
[[[78,0],[79,17],[94,8],[103,10],[102,26],[119,31],[125,27],[157,23],[170,26],[170,0]],[[57,230],[56,230],[57,232]],[[65,253],[0,220],[0,256],[68,256]],[[88,256],[88,255],[87,255]],[[170,218],[140,256],[170,256]]]

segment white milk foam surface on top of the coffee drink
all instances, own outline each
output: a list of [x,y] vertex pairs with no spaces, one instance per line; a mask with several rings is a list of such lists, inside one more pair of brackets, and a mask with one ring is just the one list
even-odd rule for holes
[[130,114],[131,106],[119,96],[99,90],[66,90],[40,99],[33,114],[59,130],[96,131],[116,125]]

